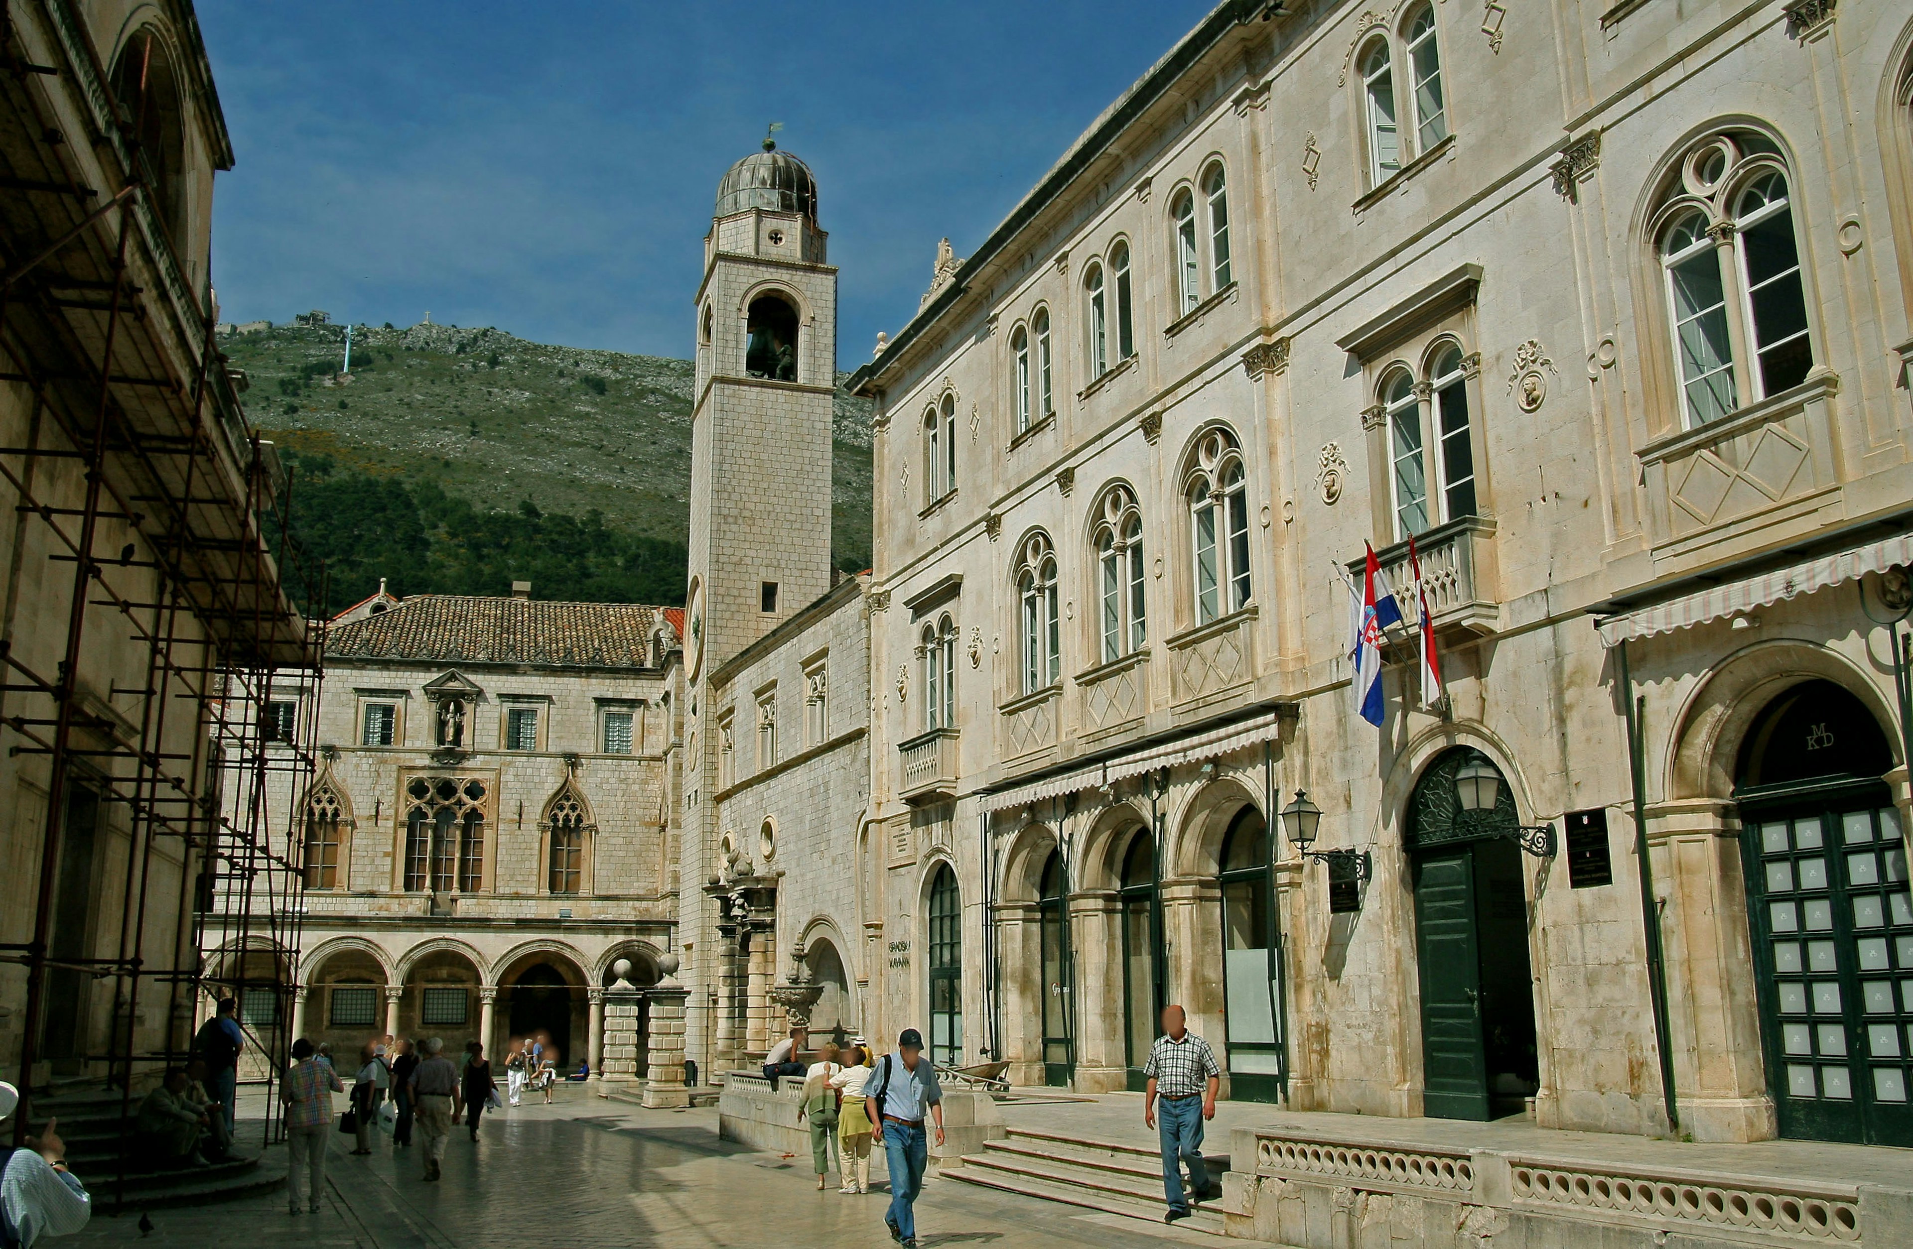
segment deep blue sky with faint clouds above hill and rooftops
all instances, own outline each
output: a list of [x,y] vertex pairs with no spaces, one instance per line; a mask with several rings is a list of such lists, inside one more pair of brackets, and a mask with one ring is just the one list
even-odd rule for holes
[[781,121],[851,369],[1207,8],[199,0],[220,312],[689,356],[717,180]]

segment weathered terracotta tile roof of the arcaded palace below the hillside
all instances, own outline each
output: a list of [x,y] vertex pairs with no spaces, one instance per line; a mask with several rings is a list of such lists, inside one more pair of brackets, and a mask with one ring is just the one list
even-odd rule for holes
[[639,603],[543,603],[480,595],[415,595],[331,629],[325,654],[429,664],[562,664],[649,668],[650,637],[668,608]]

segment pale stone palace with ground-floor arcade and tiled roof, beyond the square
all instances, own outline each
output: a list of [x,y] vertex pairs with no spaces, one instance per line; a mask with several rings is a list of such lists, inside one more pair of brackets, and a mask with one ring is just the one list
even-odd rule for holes
[[[614,964],[658,979],[677,887],[675,610],[379,587],[327,633],[316,710],[272,706],[316,750],[291,801],[304,876],[291,1029],[543,1033],[601,1069]],[[314,725],[310,740],[298,740]]]

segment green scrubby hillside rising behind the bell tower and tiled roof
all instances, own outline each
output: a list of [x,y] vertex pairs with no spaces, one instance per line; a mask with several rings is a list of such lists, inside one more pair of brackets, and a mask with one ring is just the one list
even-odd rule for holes
[[[526,342],[497,329],[228,335],[247,409],[297,469],[297,541],[329,608],[394,593],[677,603],[691,484],[689,360]],[[869,404],[838,396],[832,562],[870,562]],[[312,604],[314,608],[318,604]]]

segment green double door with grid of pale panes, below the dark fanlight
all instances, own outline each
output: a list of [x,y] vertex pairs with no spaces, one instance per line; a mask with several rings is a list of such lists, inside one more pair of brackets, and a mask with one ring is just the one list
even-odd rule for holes
[[1913,1146],[1913,897],[1886,796],[1743,805],[1781,1136]]

